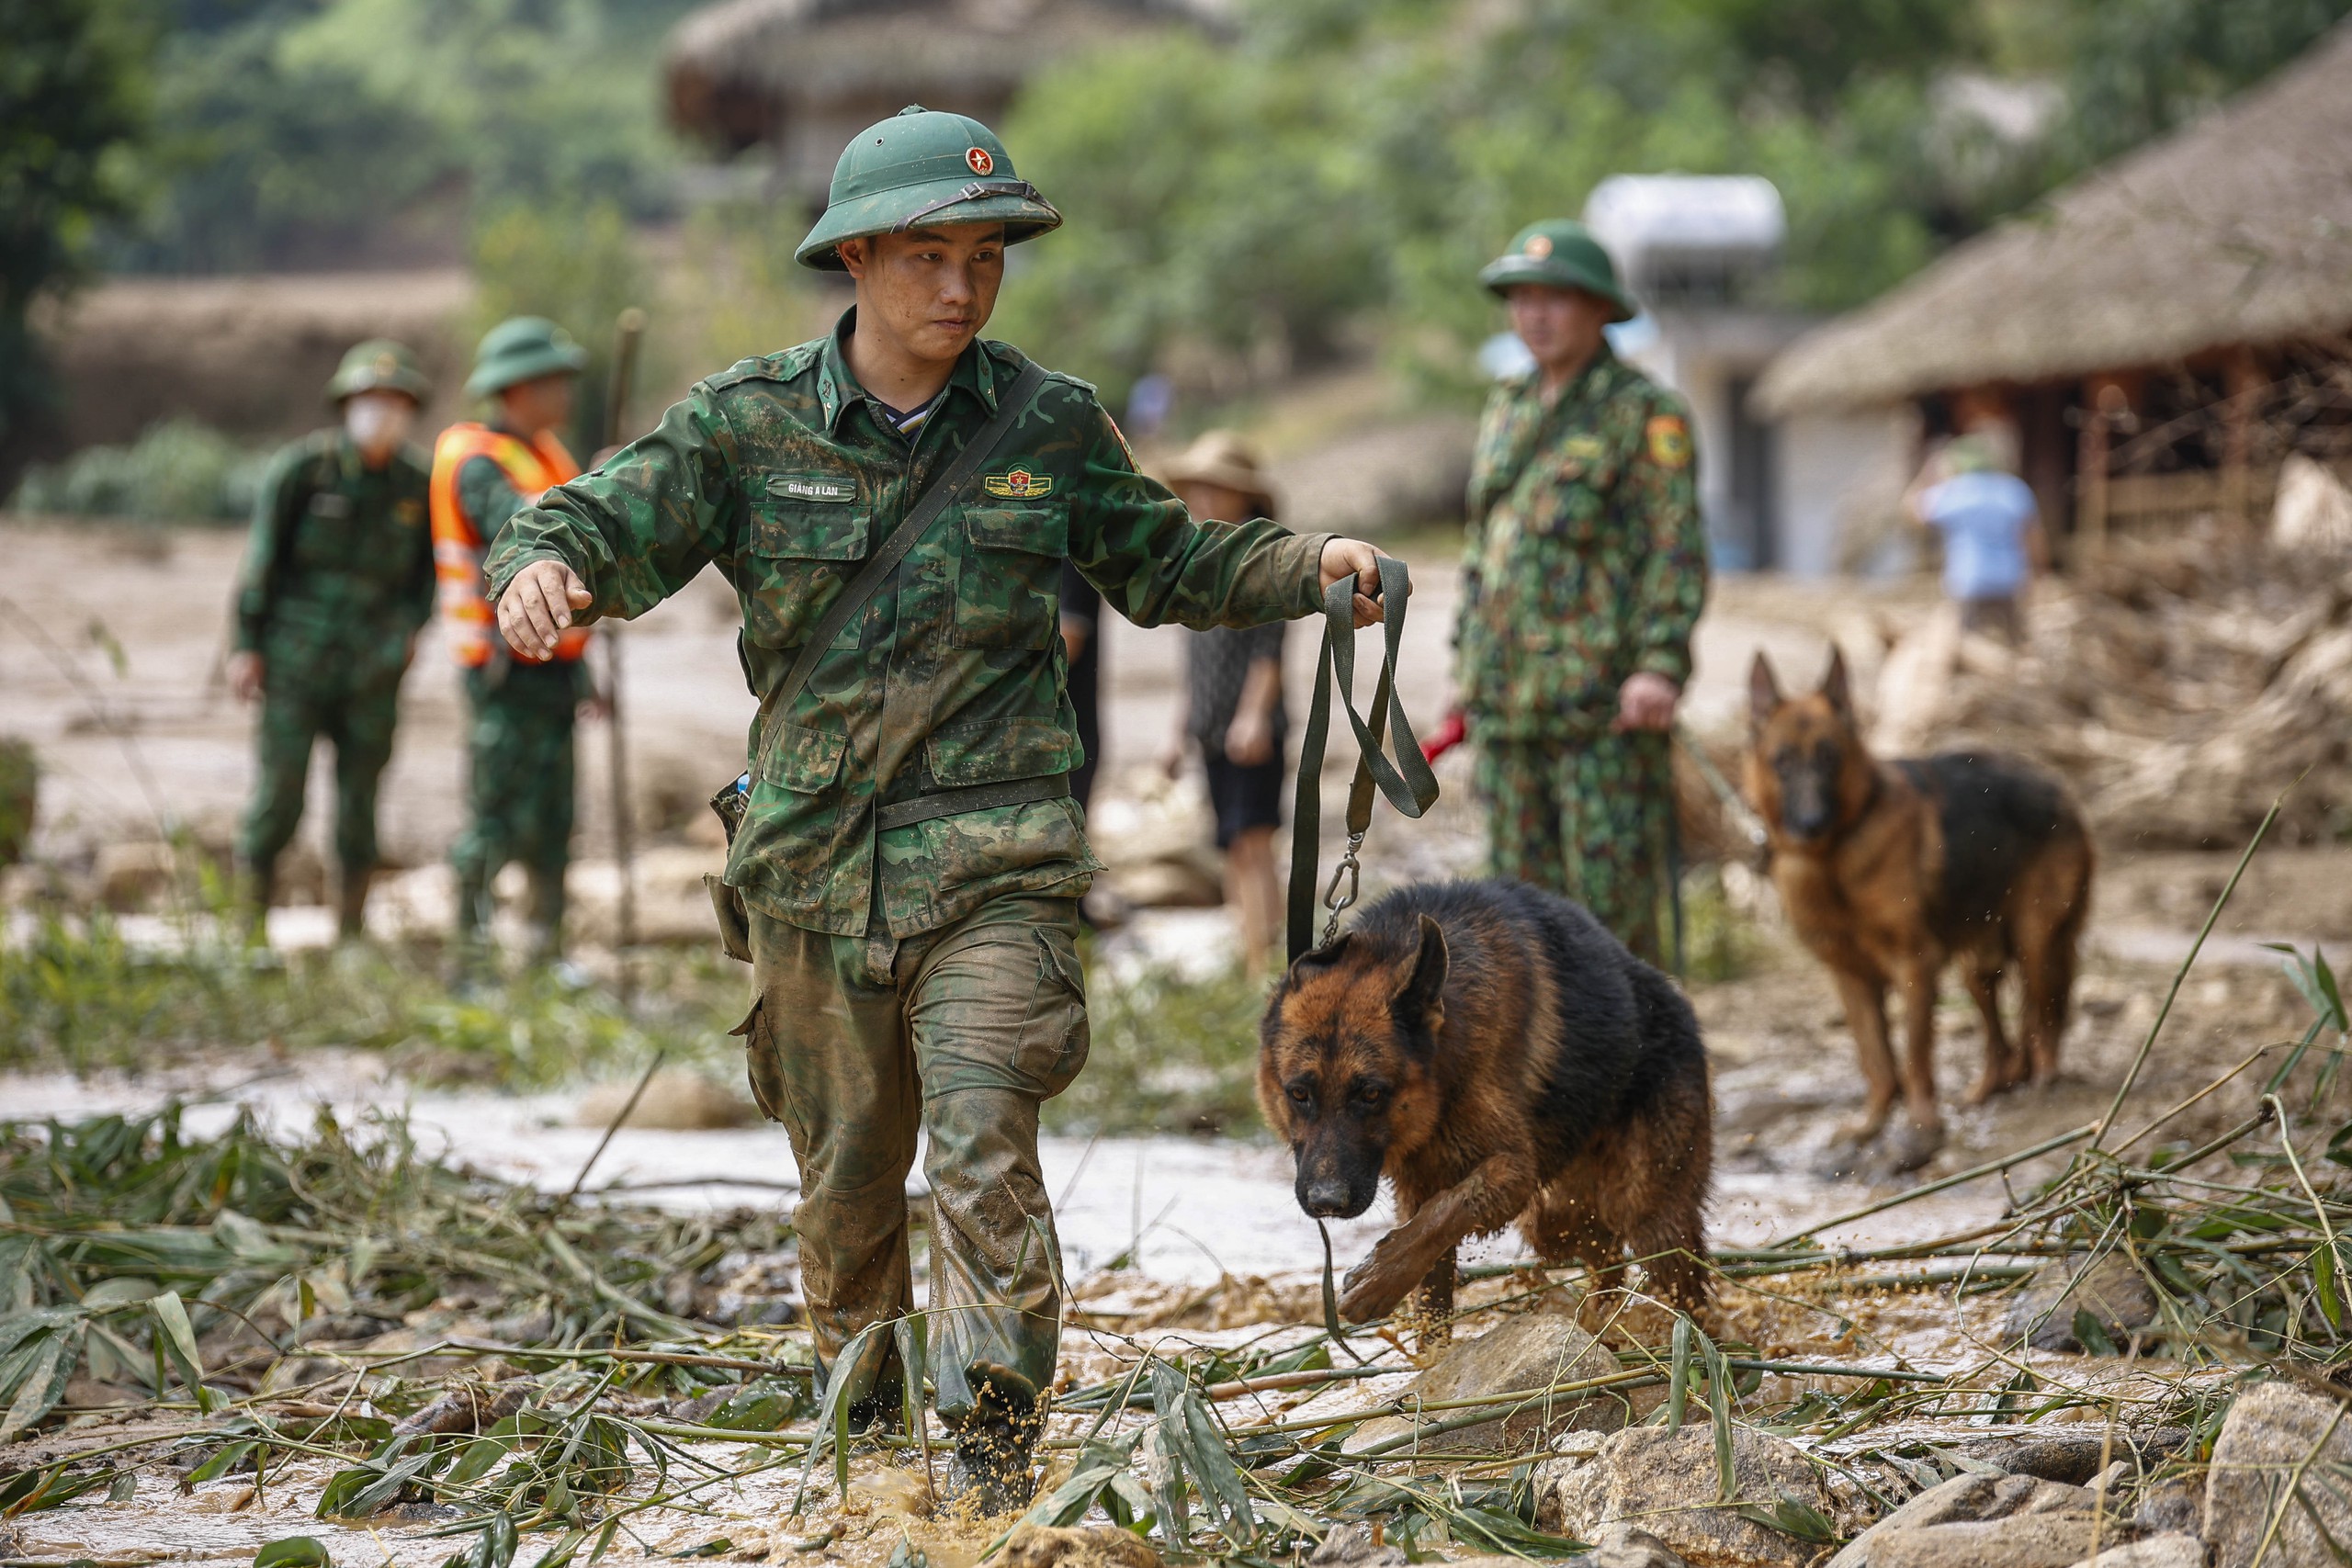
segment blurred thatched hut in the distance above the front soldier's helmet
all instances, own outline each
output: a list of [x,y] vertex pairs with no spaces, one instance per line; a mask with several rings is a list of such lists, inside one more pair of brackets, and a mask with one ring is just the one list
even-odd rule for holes
[[670,122],[734,155],[774,148],[823,195],[858,129],[908,103],[995,125],[1040,66],[1138,31],[1214,21],[1218,0],[720,0],[670,33]]

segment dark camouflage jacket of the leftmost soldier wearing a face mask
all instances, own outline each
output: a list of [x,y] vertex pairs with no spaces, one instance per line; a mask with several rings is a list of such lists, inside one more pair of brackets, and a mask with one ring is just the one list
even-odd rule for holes
[[285,665],[273,679],[322,658],[407,658],[433,618],[426,480],[414,451],[369,470],[341,430],[270,458],[238,576],[238,651]]

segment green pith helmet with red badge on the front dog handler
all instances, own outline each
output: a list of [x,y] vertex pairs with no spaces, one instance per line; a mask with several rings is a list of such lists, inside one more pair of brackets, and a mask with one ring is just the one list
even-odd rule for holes
[[1037,186],[1014,174],[1014,160],[993,129],[910,103],[842,148],[826,214],[795,259],[842,273],[847,268],[833,249],[842,240],[901,233],[924,221],[1002,223],[1007,244],[1061,228],[1061,214],[1037,195]]

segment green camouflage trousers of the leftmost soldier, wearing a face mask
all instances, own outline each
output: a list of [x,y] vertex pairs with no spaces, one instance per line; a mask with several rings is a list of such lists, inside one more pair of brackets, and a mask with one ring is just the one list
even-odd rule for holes
[[238,858],[268,879],[301,825],[310,745],[334,748],[334,860],[350,877],[376,870],[376,780],[393,759],[402,665],[325,661],[313,670],[270,661],[254,729],[254,799],[238,832]]

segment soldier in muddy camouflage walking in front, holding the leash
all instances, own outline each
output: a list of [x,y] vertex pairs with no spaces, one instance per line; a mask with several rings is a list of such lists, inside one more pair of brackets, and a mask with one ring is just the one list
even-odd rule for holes
[[[833,334],[699,383],[652,435],[517,515],[489,567],[524,654],[574,618],[637,616],[706,564],[734,583],[762,696],[727,860],[760,990],[741,1032],[800,1161],[818,1354],[861,1420],[896,1406],[887,1335],[835,1361],[858,1328],[913,1309],[906,1175],[922,1128],[929,1373],[950,1474],[985,1512],[1033,1490],[1061,1319],[1037,1107],[1087,1060],[1073,938],[1101,865],[1068,799],[1082,752],[1061,562],[1138,625],[1301,616],[1324,583],[1376,564],[1369,545],[1265,520],[1195,522],[1136,473],[1094,388],[1049,376],[800,696],[769,710],[858,562],[1025,369],[978,331],[1004,247],[1058,223],[974,120],[910,108],[866,129],[800,247],[804,266],[856,280]],[[1376,614],[1359,595],[1357,616]]]

